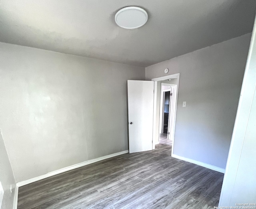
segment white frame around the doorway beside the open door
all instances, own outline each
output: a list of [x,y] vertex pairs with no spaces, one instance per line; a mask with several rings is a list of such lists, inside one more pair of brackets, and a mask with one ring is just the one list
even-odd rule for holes
[[[174,128],[174,134],[175,134],[175,126],[176,126],[176,114],[177,114],[177,106],[178,106],[178,91],[179,91],[179,82],[180,82],[180,73],[176,73],[176,74],[172,74],[172,75],[166,75],[163,77],[158,77],[158,78],[154,78],[151,79],[152,81],[154,81],[154,111],[153,111],[153,149],[155,148],[155,144],[159,143],[159,123],[156,124],[157,118],[159,119],[160,114],[156,114],[157,110],[159,108],[160,110],[160,105],[157,105],[157,82],[158,81],[164,81],[167,79],[174,79],[177,78],[177,90],[176,90],[176,101],[175,101],[175,112],[174,112],[174,124],[173,124],[173,128]],[[161,90],[161,89],[160,89]],[[161,92],[161,91],[160,91]],[[159,120],[158,120],[159,121]],[[174,136],[173,134],[173,136]],[[175,138],[174,138],[175,139]],[[174,150],[174,139],[172,140],[172,154],[173,154],[173,150]]]

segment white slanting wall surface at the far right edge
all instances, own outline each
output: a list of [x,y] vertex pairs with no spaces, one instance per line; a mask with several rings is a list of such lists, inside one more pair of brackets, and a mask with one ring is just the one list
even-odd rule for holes
[[236,203],[256,203],[256,20],[219,206]]

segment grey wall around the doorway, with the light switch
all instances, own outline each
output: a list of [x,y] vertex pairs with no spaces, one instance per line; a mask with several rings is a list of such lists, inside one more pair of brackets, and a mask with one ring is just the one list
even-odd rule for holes
[[[226,167],[251,34],[146,67],[146,79],[180,73],[174,154]],[[182,102],[186,101],[186,107]]]

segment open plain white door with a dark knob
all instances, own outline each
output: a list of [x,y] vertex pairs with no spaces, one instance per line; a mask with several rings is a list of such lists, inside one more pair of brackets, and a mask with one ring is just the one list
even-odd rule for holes
[[152,150],[154,81],[128,80],[129,152]]

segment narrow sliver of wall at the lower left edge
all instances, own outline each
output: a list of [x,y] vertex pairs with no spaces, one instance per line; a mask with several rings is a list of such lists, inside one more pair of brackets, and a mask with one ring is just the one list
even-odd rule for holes
[[[16,182],[14,179],[8,154],[4,146],[4,140],[2,138],[1,130],[0,130],[0,181],[4,189],[2,206],[0,205],[0,208],[2,209],[12,208],[14,203],[14,191],[15,191]],[[10,191],[10,185],[12,185],[12,193]]]

